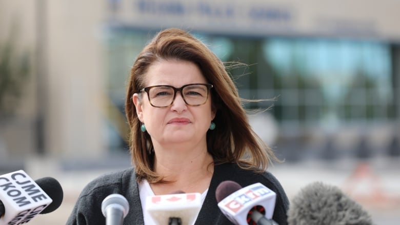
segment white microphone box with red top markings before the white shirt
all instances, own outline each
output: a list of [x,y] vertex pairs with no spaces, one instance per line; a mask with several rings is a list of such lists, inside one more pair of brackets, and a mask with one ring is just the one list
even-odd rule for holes
[[175,191],[167,195],[148,196],[146,211],[158,225],[192,224],[202,207],[200,193]]

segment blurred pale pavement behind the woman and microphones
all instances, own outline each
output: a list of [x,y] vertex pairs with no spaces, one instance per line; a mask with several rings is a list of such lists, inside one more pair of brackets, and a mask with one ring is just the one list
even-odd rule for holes
[[[124,159],[126,160],[126,159]],[[38,215],[29,224],[65,224],[84,186],[95,177],[121,167],[60,169],[56,160],[33,159],[25,171],[33,179],[56,178],[64,190],[62,205],[49,214]],[[377,157],[369,161],[349,159],[275,163],[269,171],[281,182],[289,200],[314,181],[334,185],[361,204],[375,224],[397,225],[400,221],[400,158]]]

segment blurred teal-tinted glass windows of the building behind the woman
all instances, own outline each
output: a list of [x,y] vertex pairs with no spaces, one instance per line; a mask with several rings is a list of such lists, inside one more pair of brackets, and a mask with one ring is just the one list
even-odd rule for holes
[[[125,119],[125,84],[139,51],[154,33],[109,30],[107,39],[110,114],[115,127]],[[331,126],[352,122],[389,121],[397,109],[392,84],[391,47],[366,40],[245,37],[198,33],[224,62],[248,67],[230,71],[239,94],[248,99],[277,97],[276,101],[247,104],[266,109],[281,126]],[[117,119],[118,117],[119,119]],[[121,127],[119,133],[124,134]]]

